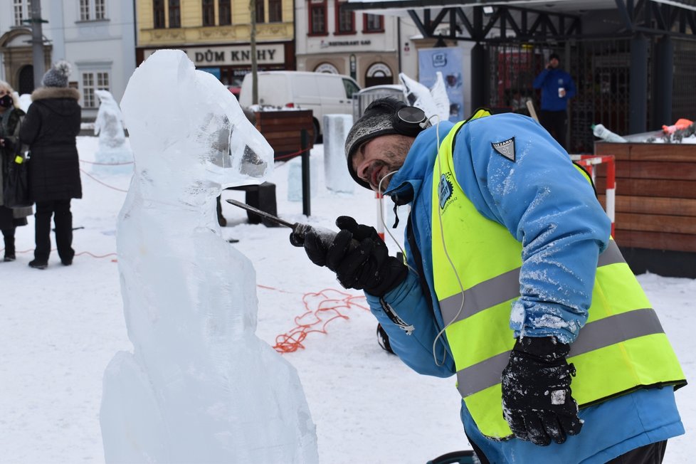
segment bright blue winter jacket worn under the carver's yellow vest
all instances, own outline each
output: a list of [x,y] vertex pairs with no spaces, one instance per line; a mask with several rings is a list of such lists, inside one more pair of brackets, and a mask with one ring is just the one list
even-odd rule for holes
[[[397,204],[411,204],[404,246],[408,265],[422,277],[412,270],[383,300],[367,295],[394,352],[415,371],[441,377],[453,375],[455,367],[441,333],[443,318],[433,287],[431,192],[436,147],[452,127],[441,122],[421,132],[386,191]],[[491,143],[511,137],[514,163],[490,155]],[[522,242],[520,298],[511,309],[515,336],[523,331],[573,342],[587,317],[597,257],[610,230],[591,186],[565,174],[575,169],[566,152],[543,127],[522,115],[506,113],[466,123],[453,152],[457,179],[468,199]],[[383,305],[391,307],[401,325],[392,322],[398,319],[390,318]],[[561,315],[566,323],[545,324],[548,314]],[[492,463],[604,463],[684,433],[671,387],[640,390],[583,408],[581,433],[547,447],[517,438],[488,440],[463,401],[461,407],[466,433]]]

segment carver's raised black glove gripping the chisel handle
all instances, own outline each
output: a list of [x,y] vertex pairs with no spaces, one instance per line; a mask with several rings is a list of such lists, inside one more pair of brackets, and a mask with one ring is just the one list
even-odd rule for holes
[[[290,243],[304,246],[312,263],[334,271],[344,288],[365,290],[381,297],[406,279],[408,268],[389,256],[386,244],[374,227],[358,224],[348,216],[339,216],[336,225],[341,231],[335,236],[314,228],[305,228],[300,234],[293,230]],[[303,242],[298,239],[302,233],[305,235]]]

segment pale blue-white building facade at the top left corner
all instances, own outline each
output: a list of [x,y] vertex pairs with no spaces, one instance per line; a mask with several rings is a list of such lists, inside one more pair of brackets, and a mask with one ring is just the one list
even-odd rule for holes
[[[0,78],[19,93],[34,89],[30,19],[30,0],[0,0]],[[69,85],[82,94],[83,117],[95,117],[97,89],[109,90],[120,100],[135,70],[132,4],[44,0],[41,19],[44,68],[57,60],[72,65]]]

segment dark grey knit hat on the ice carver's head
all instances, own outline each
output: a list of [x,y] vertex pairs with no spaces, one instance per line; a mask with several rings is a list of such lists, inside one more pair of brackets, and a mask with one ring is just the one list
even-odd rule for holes
[[353,169],[353,155],[362,144],[375,137],[403,133],[394,129],[394,115],[396,115],[397,111],[406,106],[408,106],[406,103],[394,97],[384,97],[374,100],[348,132],[346,137],[346,161],[348,162],[348,172],[354,181],[368,190],[371,190],[370,185],[366,181],[360,179]]

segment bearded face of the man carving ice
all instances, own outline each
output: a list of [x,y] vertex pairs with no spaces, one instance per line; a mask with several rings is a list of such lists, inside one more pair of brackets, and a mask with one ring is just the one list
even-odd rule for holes
[[406,135],[375,137],[357,149],[352,159],[353,169],[357,176],[366,181],[374,191],[379,191],[381,181],[381,192],[384,193],[391,179],[391,176],[387,174],[393,173],[404,165],[413,140],[413,137],[406,137]]

